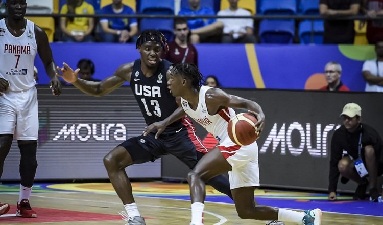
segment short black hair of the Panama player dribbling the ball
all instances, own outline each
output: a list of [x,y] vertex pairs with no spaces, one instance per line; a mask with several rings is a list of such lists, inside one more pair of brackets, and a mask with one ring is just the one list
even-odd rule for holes
[[202,74],[198,67],[193,63],[177,63],[173,65],[172,73],[179,74],[190,81],[192,81],[192,86],[196,89],[200,89],[202,85]]

